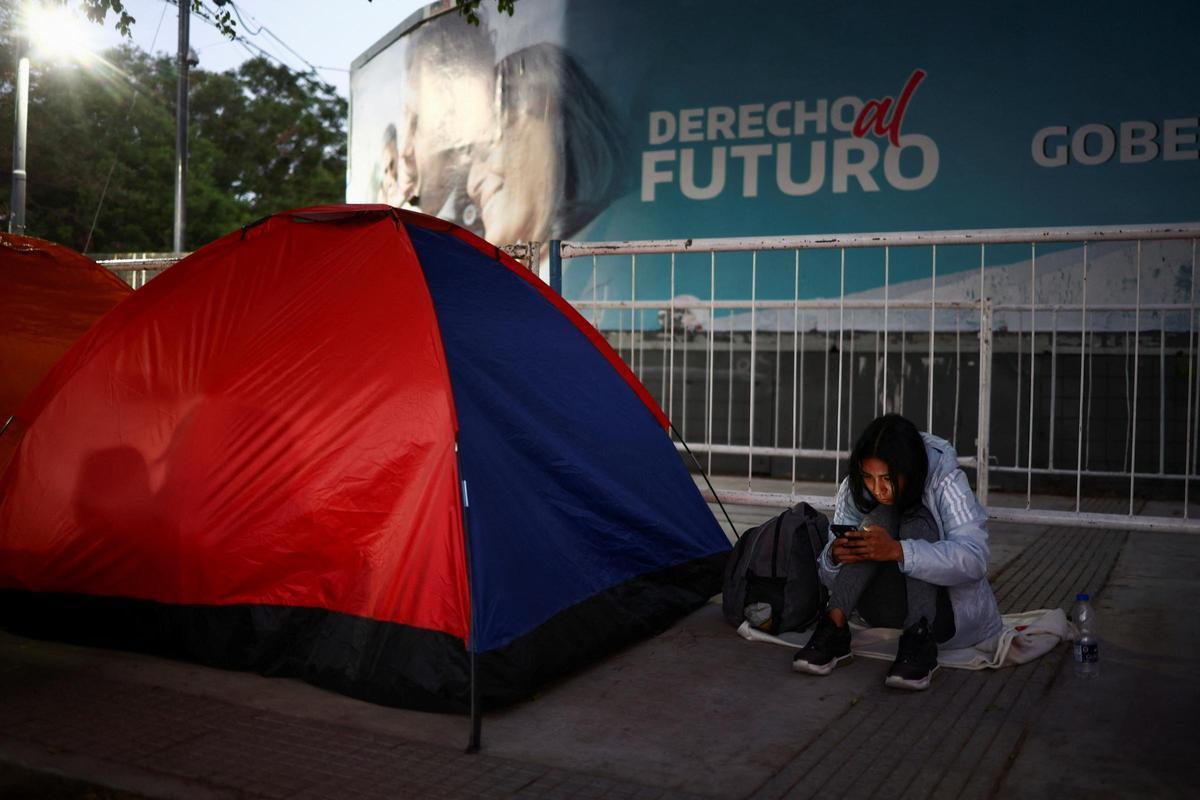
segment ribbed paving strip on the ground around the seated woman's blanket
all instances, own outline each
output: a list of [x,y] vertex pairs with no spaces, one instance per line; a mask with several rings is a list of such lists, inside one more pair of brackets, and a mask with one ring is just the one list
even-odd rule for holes
[[[1098,593],[1127,539],[1045,530],[995,577],[1002,612],[1062,607],[1079,587]],[[866,688],[754,796],[985,796],[1036,718],[1064,649],[1015,668],[943,669],[926,693]]]

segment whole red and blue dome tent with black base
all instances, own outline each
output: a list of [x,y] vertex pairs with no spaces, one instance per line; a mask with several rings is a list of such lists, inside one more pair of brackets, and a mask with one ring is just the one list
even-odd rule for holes
[[602,337],[389,206],[202,248],[17,416],[0,620],[25,634],[464,711],[720,590],[727,540]]

